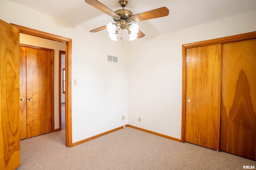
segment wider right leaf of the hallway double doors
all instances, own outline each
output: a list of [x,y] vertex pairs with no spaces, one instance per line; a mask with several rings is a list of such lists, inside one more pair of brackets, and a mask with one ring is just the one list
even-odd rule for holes
[[26,48],[27,137],[49,133],[51,123],[51,52]]

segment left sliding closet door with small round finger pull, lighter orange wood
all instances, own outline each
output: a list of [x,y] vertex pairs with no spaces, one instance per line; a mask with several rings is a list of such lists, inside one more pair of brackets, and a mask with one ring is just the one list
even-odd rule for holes
[[185,141],[219,150],[221,45],[186,49]]

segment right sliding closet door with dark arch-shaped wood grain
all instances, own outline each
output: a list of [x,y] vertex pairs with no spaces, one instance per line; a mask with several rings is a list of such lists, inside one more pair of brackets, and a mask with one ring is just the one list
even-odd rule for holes
[[222,44],[220,150],[256,160],[256,39]]

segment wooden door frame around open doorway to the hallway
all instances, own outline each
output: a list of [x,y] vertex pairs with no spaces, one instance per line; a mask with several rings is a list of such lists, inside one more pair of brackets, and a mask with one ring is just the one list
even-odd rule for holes
[[23,27],[10,23],[11,25],[18,27],[20,33],[32,35],[35,37],[50,39],[53,41],[66,43],[66,92],[65,92],[65,120],[66,120],[66,146],[72,147],[72,109],[71,109],[71,57],[72,57],[72,39],[61,37],[58,35],[38,31],[28,27]]

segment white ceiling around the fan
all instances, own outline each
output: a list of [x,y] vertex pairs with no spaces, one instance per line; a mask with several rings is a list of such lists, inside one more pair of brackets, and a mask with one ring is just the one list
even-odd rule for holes
[[[88,30],[114,22],[110,16],[90,6],[84,0],[10,1]],[[112,11],[121,9],[118,0],[98,1]],[[128,0],[125,9],[132,11],[133,14],[139,14],[163,6],[170,10],[168,16],[138,22],[140,30],[146,35],[145,37],[153,37],[250,12],[256,10],[256,0]],[[106,30],[98,33],[108,36]]]

